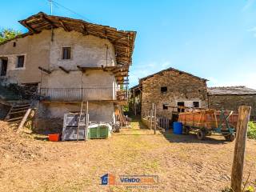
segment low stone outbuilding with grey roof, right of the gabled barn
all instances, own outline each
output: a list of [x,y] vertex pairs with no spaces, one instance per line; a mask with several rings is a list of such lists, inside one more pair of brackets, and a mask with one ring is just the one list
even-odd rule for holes
[[256,120],[256,90],[246,86],[208,88],[209,108],[234,110],[242,105],[251,106],[250,118]]

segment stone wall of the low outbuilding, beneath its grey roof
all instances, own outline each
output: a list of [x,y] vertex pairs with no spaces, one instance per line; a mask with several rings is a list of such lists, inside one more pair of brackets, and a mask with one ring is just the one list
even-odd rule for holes
[[256,120],[256,95],[208,95],[209,108],[234,110],[242,105],[251,106],[250,118]]

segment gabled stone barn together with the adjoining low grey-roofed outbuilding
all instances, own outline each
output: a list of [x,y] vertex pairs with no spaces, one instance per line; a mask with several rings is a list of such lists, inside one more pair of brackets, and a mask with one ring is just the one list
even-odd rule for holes
[[149,115],[152,103],[158,117],[177,118],[177,106],[226,109],[238,112],[241,105],[252,106],[251,119],[256,119],[256,90],[245,86],[209,87],[205,78],[198,78],[174,68],[161,70],[139,80],[130,88],[130,110]]

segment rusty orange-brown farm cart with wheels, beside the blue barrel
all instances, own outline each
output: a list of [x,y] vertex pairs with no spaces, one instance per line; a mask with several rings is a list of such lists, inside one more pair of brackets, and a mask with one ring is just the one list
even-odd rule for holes
[[198,139],[205,139],[211,133],[222,134],[227,141],[234,141],[238,114],[230,110],[192,110],[178,114],[178,122],[182,122],[183,132],[197,132]]

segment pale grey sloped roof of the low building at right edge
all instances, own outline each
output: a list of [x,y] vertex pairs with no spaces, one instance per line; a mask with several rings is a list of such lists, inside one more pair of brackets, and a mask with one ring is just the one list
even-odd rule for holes
[[225,94],[255,94],[256,90],[250,89],[246,86],[219,86],[219,87],[208,87],[208,94],[211,95],[225,95]]

